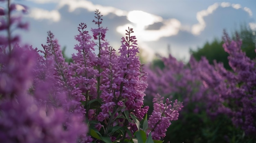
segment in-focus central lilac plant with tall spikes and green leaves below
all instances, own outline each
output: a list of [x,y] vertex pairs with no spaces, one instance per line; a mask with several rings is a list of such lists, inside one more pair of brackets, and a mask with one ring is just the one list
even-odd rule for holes
[[[101,27],[102,15],[98,10],[95,14],[96,20],[93,22],[98,27],[91,29],[94,40],[86,30],[86,24],[79,24],[79,35],[75,37],[79,41],[75,46],[77,53],[73,54],[74,63],[70,64],[77,87],[85,96],[82,104],[87,111],[85,117],[90,125],[91,141],[133,142],[138,139],[145,142],[147,136],[148,140],[161,139],[165,135],[156,131],[161,128],[157,125],[165,124],[165,128],[168,128],[173,119],[167,117],[163,123],[153,123],[155,118],[152,115],[147,120],[148,106],[143,107],[143,100],[148,84],[146,73],[137,56],[139,49],[136,37],[132,35],[133,29],[126,30],[126,37],[122,37],[117,54],[105,39],[107,29]],[[94,47],[99,51],[98,54],[95,54]],[[156,104],[164,106],[160,102]],[[168,110],[178,116],[182,105],[171,109],[171,102],[166,104]],[[159,118],[163,117],[165,115]],[[141,121],[144,122],[143,128],[140,126]],[[149,123],[155,128],[149,128]]]

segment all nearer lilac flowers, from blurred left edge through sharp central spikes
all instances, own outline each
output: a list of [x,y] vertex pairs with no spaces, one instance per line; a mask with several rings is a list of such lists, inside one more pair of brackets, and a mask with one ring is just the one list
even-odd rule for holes
[[[133,29],[126,30],[117,53],[105,39],[107,28],[96,10],[97,28],[90,36],[86,24],[79,24],[77,53],[66,63],[50,31],[42,50],[20,46],[10,29],[27,25],[11,15],[16,5],[6,2],[7,9],[0,8],[0,30],[7,31],[0,39],[0,142],[132,141],[149,108],[144,106],[147,73]],[[177,100],[171,105],[157,97],[146,129],[153,139],[165,136],[182,108]]]

